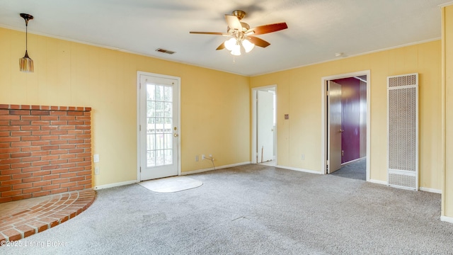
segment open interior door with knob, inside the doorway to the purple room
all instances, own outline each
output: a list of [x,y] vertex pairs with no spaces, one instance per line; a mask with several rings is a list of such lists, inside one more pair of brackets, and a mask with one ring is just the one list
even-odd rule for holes
[[328,81],[328,139],[327,139],[327,159],[328,174],[341,168],[341,85]]

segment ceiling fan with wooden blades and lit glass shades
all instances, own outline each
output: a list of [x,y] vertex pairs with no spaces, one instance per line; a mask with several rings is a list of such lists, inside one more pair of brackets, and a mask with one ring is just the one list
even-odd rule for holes
[[246,52],[253,50],[255,45],[259,47],[268,47],[269,42],[266,42],[263,39],[257,38],[253,35],[263,35],[265,33],[273,33],[283,29],[288,28],[285,22],[282,23],[273,23],[263,26],[257,26],[255,28],[250,28],[247,23],[241,22],[242,18],[246,16],[245,11],[236,10],[231,14],[225,14],[225,20],[228,24],[226,33],[217,33],[217,32],[189,32],[193,34],[202,34],[202,35],[224,35],[231,37],[229,40],[222,42],[216,50],[226,50],[231,51],[232,55],[239,56],[241,55],[241,46]]

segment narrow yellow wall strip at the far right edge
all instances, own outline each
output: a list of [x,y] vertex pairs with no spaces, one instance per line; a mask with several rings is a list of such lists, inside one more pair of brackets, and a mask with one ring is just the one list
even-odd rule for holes
[[442,186],[442,216],[453,218],[453,6],[442,8],[442,86],[445,90],[445,172]]

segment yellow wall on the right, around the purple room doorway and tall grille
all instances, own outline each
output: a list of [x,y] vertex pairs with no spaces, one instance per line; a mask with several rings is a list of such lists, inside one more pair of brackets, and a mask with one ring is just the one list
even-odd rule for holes
[[441,53],[441,41],[436,40],[252,77],[251,88],[277,84],[277,164],[321,171],[321,77],[369,69],[370,179],[386,182],[386,77],[418,72],[420,186],[441,190]]

